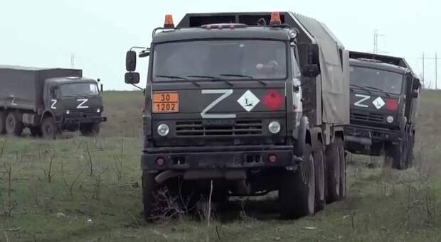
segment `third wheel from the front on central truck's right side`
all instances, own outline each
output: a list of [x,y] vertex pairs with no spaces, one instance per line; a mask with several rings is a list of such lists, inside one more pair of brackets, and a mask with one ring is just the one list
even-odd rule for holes
[[335,139],[334,143],[328,145],[326,153],[326,182],[328,196],[326,202],[336,202],[340,197],[340,155],[339,144]]

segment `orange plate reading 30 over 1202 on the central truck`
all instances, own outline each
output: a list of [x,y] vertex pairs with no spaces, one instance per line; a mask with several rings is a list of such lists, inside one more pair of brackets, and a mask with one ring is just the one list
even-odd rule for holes
[[154,113],[179,112],[178,92],[154,92],[152,110]]

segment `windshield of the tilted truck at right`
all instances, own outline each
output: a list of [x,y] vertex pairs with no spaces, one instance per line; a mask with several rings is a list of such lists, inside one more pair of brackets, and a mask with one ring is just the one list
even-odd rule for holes
[[403,75],[386,70],[352,66],[351,84],[372,90],[381,89],[381,91],[391,94],[400,94]]

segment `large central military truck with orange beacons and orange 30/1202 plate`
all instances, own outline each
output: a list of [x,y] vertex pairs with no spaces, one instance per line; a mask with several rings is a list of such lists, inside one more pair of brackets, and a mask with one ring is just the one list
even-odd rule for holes
[[[134,50],[128,84],[139,82]],[[190,210],[201,195],[278,191],[286,218],[345,197],[349,53],[323,23],[291,12],[188,13],[175,27],[167,15],[139,52],[147,56],[148,221],[164,212],[160,194]]]

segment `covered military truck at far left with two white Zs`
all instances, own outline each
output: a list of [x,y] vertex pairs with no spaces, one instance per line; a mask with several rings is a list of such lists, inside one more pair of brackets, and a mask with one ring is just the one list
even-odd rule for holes
[[[82,70],[0,65],[0,134],[56,138],[61,131],[100,132],[98,84]],[[101,85],[102,90],[102,85]]]

